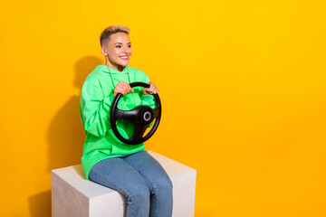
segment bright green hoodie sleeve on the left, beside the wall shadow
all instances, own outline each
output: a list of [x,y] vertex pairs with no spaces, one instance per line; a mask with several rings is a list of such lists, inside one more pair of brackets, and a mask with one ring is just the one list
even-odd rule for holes
[[114,97],[104,97],[100,87],[85,81],[82,86],[81,118],[84,129],[96,137],[104,137],[110,129],[110,106]]

